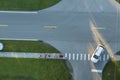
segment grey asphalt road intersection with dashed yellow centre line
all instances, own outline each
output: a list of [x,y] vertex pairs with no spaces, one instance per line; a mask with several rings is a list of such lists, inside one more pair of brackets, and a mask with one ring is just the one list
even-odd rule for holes
[[[0,38],[39,39],[53,45],[63,54],[90,54],[91,45],[96,47],[90,25],[93,22],[113,52],[117,52],[120,48],[120,9],[116,6],[119,5],[113,0],[62,0],[37,14],[0,13]],[[75,80],[100,80],[91,72],[91,62],[70,63]]]

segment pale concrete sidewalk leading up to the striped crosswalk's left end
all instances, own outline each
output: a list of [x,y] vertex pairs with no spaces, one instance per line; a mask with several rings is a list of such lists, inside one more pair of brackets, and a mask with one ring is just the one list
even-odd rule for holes
[[65,59],[60,53],[25,53],[25,52],[0,52],[0,57],[9,58],[42,58],[42,59]]

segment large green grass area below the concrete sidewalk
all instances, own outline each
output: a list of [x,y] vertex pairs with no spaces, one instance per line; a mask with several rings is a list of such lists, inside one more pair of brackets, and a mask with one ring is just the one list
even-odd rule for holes
[[72,80],[64,61],[0,58],[0,80]]

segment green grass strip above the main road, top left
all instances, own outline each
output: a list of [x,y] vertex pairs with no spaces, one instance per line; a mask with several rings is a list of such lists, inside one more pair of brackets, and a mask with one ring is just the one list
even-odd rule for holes
[[0,10],[41,10],[55,5],[60,0],[0,0]]

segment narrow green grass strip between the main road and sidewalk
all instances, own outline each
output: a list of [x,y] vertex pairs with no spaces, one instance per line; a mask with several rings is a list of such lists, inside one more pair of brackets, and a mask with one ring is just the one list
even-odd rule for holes
[[41,52],[59,53],[54,47],[40,41],[0,40],[4,44],[3,52]]

